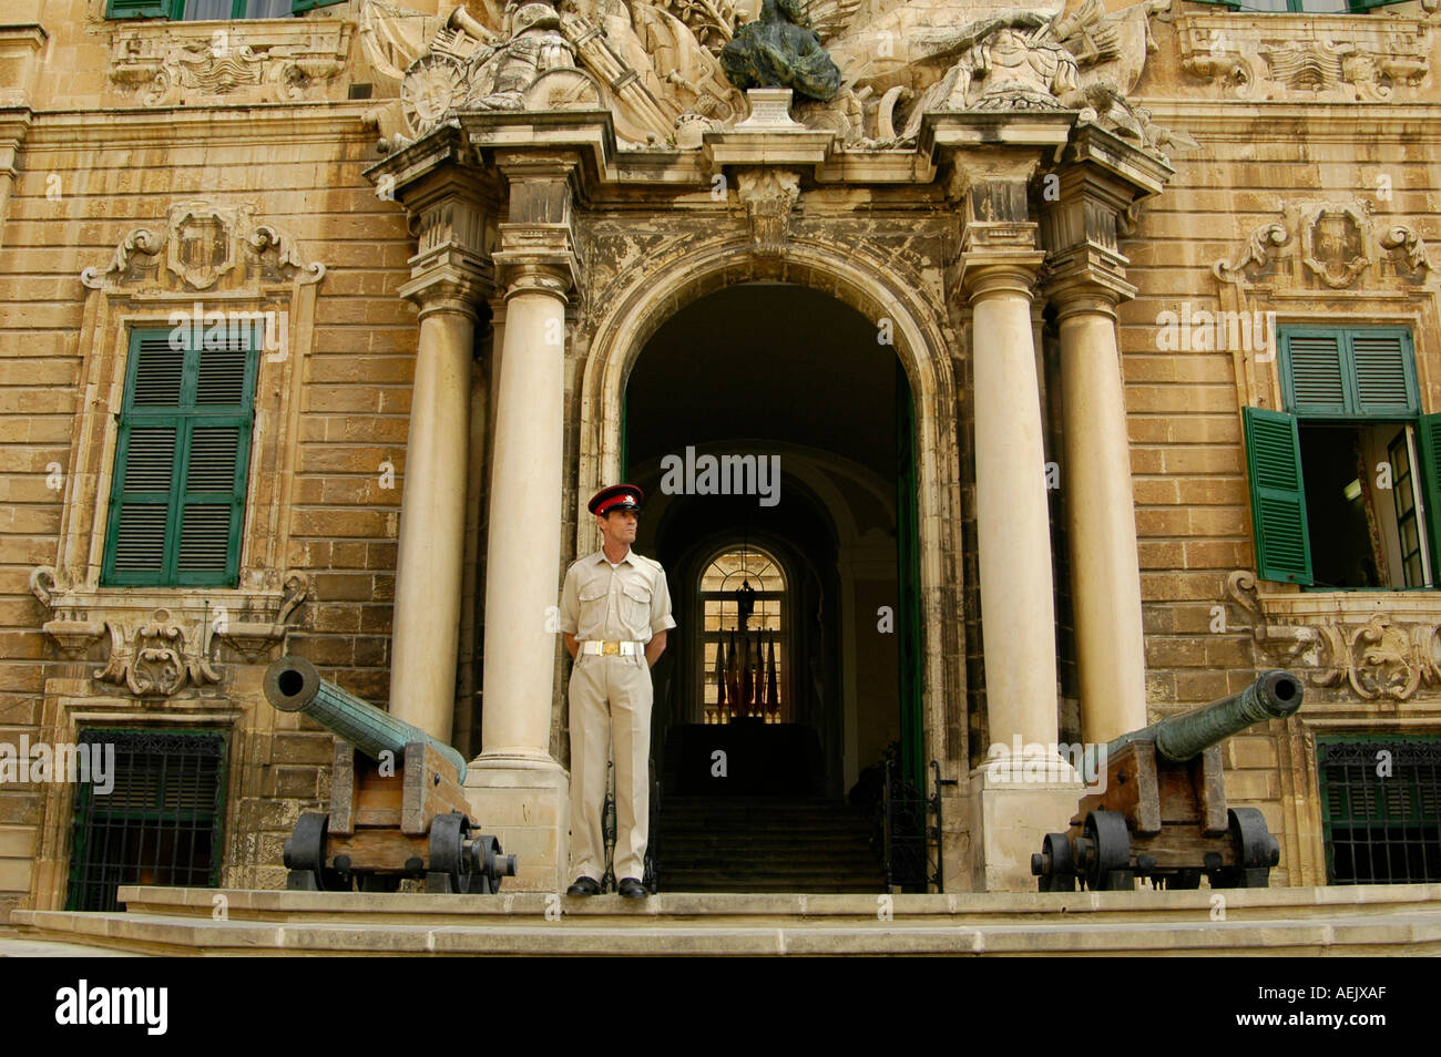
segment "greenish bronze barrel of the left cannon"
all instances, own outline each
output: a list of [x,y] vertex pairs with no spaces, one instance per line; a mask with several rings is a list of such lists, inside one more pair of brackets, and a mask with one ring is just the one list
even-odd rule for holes
[[310,716],[373,760],[379,760],[382,752],[403,760],[406,745],[425,742],[454,763],[457,781],[465,782],[465,757],[455,749],[327,683],[316,665],[301,657],[282,657],[265,670],[265,697],[281,711]]

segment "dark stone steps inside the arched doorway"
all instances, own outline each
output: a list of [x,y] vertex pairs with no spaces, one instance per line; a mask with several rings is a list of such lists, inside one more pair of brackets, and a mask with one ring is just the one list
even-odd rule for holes
[[885,891],[865,808],[801,796],[669,796],[656,854],[661,891]]

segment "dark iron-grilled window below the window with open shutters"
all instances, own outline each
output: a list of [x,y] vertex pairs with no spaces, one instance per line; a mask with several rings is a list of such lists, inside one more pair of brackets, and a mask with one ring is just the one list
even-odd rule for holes
[[1441,881],[1441,737],[1316,739],[1329,884]]

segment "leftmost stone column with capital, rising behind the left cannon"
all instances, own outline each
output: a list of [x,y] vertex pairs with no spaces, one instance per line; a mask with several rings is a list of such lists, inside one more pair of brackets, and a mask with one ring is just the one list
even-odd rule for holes
[[418,207],[421,252],[401,295],[419,308],[401,494],[391,713],[451,742],[465,557],[470,364],[488,268],[473,253],[478,210],[457,194]]

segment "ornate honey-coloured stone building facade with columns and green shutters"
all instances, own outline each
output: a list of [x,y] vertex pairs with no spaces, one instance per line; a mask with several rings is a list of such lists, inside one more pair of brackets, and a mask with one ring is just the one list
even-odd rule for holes
[[[657,737],[754,546],[818,791],[935,760],[948,890],[1030,889],[1075,806],[987,762],[1270,667],[1307,704],[1225,763],[1275,880],[1435,880],[1434,4],[814,3],[830,102],[731,86],[729,4],[452,7],[7,7],[0,742],[203,757],[170,858],[280,887],[331,759],[261,696],[290,652],[473,757],[563,886],[553,606],[630,477]],[[664,485],[687,449],[781,500]],[[0,785],[0,916],[75,906],[85,796]]]

